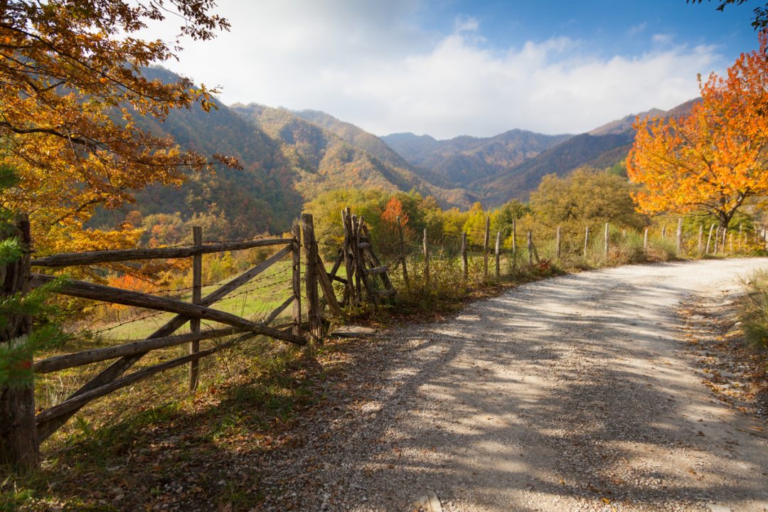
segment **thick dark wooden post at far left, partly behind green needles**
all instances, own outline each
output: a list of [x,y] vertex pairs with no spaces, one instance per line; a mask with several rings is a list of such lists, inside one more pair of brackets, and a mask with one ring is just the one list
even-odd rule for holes
[[[26,215],[19,216],[15,223],[24,253],[15,262],[0,266],[2,295],[25,296],[29,286],[29,252],[31,236]],[[6,348],[22,348],[31,333],[31,319],[28,316],[9,313],[5,325],[0,329],[0,343]],[[21,365],[32,364],[31,349],[22,354]],[[30,369],[31,372],[31,369]],[[22,471],[35,469],[40,465],[40,447],[35,428],[35,386],[32,375],[28,382],[15,382],[0,386],[0,463],[9,464]]]

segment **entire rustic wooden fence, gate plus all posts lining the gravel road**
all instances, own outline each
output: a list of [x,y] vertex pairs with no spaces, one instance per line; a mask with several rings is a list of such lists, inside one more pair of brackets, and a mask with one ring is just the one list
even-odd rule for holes
[[[28,293],[30,289],[45,285],[55,279],[53,276],[31,273],[32,267],[58,269],[68,266],[89,266],[104,263],[118,263],[145,259],[192,259],[192,297],[191,302],[183,302],[165,296],[156,296],[149,293],[135,292],[126,289],[118,289],[92,282],[68,280],[58,287],[56,292],[124,306],[153,309],[157,312],[170,312],[175,316],[162,325],[159,329],[142,339],[134,342],[126,342],[104,348],[93,348],[82,352],[32,361],[29,356],[28,365],[35,374],[56,372],[65,368],[74,368],[88,365],[94,362],[103,362],[114,359],[107,368],[98,373],[91,381],[82,385],[68,398],[51,408],[35,414],[35,398],[32,385],[16,388],[0,389],[0,462],[11,462],[21,467],[35,467],[39,460],[39,444],[65,424],[72,415],[79,411],[88,402],[108,395],[113,391],[132,385],[159,372],[180,365],[188,365],[189,386],[194,390],[198,383],[200,358],[212,355],[224,348],[229,348],[256,335],[265,335],[273,339],[296,345],[307,345],[310,342],[321,342],[324,335],[323,302],[320,300],[322,291],[325,305],[333,315],[341,315],[343,306],[360,306],[362,302],[369,301],[374,307],[382,303],[391,302],[396,295],[396,289],[389,279],[389,267],[382,265],[373,250],[373,240],[369,228],[362,217],[353,215],[349,208],[342,211],[343,243],[336,253],[336,260],[332,268],[327,271],[319,256],[319,250],[314,234],[313,218],[303,214],[300,223],[293,226],[288,238],[260,238],[234,242],[203,243],[203,233],[200,228],[193,229],[193,244],[184,247],[167,247],[158,249],[126,249],[126,250],[102,250],[88,253],[63,253],[53,256],[45,256],[31,259],[31,241],[29,237],[29,224],[25,219],[18,222],[18,236],[27,249],[22,259],[16,263],[0,266],[0,283],[2,293],[5,296]],[[399,242],[396,242],[396,265],[401,266],[403,282],[410,287],[408,262],[406,255],[406,240],[399,226]],[[682,220],[677,223],[677,252],[682,252],[683,229]],[[666,232],[666,229],[664,230]],[[666,234],[666,233],[664,233]],[[483,279],[488,279],[490,273],[491,232],[490,219],[486,218],[485,233],[482,245],[482,274]],[[703,228],[699,230],[697,239],[697,252],[700,255],[710,253],[710,245],[713,253],[718,249],[723,251],[726,243],[730,242],[733,251],[733,233],[727,239],[725,230],[720,232],[711,226],[707,238],[707,246],[703,246]],[[737,243],[746,242],[747,233],[739,230]],[[755,233],[755,238],[760,237],[761,245],[765,245],[768,235],[761,231]],[[513,221],[511,226],[511,256],[508,259],[510,270],[515,271],[518,265],[518,233],[517,225]],[[534,244],[533,233],[528,230],[525,233],[527,244],[528,265],[543,263],[539,258],[538,250]],[[558,227],[554,238],[554,259],[561,258],[561,230]],[[579,242],[580,244],[581,242]],[[590,230],[584,232],[584,256],[590,243]],[[611,249],[610,226],[604,226],[604,244],[601,247],[604,257],[609,256]],[[214,292],[202,296],[202,257],[204,254],[223,253],[225,251],[253,249],[257,247],[280,247],[272,256],[248,269],[240,276],[231,279],[219,286]],[[648,230],[644,233],[644,249],[648,249]],[[425,282],[429,284],[430,258],[428,233],[423,232],[419,250],[423,253],[422,272]],[[578,249],[581,250],[581,249]],[[501,276],[502,233],[495,235],[494,274],[495,278]],[[305,260],[305,273],[302,279],[301,262],[302,254]],[[266,315],[261,322],[245,319],[229,312],[214,309],[214,304],[230,296],[230,294],[252,282],[254,278],[263,273],[270,266],[281,259],[291,259],[291,294],[276,309]],[[468,278],[468,243],[467,233],[461,235],[461,250],[459,257],[462,263],[463,278]],[[344,266],[346,276],[339,276],[339,269]],[[343,296],[336,298],[333,282],[343,285]],[[302,318],[302,282],[306,293],[306,322]],[[289,306],[293,306],[292,319],[283,325],[271,325],[281,313]],[[211,320],[224,325],[217,329],[200,329],[201,320]],[[174,335],[180,327],[190,322],[190,332]],[[30,332],[32,319],[23,316],[9,317],[7,325],[0,330],[0,343],[12,346],[15,340],[22,339]],[[227,338],[226,342],[214,345],[207,350],[200,350],[200,342],[207,339]],[[177,345],[188,345],[189,353],[183,357],[170,361],[151,365],[147,368],[126,374],[144,355],[152,350],[168,348]]]

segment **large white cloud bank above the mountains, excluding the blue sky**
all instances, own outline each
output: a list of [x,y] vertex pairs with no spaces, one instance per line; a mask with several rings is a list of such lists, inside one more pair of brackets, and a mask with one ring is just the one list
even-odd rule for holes
[[375,134],[578,133],[687,101],[697,73],[720,64],[712,47],[661,35],[636,57],[588,55],[569,38],[498,48],[474,18],[423,29],[416,0],[221,3],[232,31],[188,44],[170,68],[222,85],[226,103],[323,110]]

